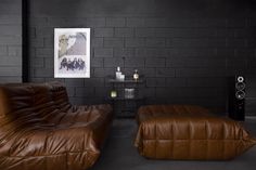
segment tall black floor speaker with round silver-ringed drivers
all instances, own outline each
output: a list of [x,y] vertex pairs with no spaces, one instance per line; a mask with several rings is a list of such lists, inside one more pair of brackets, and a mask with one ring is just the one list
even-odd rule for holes
[[229,78],[229,117],[243,121],[245,118],[245,79],[244,76]]

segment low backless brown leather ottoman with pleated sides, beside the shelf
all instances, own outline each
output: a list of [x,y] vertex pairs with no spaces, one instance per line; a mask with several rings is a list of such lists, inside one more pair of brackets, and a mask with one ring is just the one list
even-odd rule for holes
[[135,145],[148,158],[225,160],[256,144],[239,122],[200,106],[142,106],[137,118]]

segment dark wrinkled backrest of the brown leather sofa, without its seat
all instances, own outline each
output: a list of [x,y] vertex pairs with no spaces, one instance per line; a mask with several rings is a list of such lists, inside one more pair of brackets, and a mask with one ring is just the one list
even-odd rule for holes
[[0,145],[14,133],[54,128],[55,117],[69,107],[66,89],[60,82],[0,84]]

